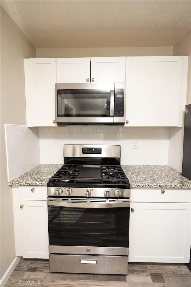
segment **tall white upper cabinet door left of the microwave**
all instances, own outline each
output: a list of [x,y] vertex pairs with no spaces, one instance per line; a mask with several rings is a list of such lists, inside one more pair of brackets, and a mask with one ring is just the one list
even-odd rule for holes
[[57,126],[56,59],[24,59],[27,126]]

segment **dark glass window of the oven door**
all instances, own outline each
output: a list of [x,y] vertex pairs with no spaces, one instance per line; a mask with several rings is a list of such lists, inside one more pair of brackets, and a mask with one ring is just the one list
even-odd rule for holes
[[130,207],[48,206],[49,245],[129,246]]

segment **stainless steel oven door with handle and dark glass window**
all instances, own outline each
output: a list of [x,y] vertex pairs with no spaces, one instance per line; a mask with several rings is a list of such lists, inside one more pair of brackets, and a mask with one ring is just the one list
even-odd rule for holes
[[47,204],[50,253],[128,255],[130,201]]

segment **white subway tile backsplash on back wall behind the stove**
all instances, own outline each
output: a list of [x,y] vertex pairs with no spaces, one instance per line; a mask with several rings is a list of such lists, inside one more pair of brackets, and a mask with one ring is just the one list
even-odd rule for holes
[[64,144],[119,144],[121,164],[168,164],[168,127],[39,127],[39,140],[41,164],[63,164]]

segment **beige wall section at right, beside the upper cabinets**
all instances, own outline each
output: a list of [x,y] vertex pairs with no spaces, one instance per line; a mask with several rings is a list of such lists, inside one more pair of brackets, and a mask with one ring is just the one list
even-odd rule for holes
[[191,29],[173,47],[173,55],[188,56],[187,101],[191,103]]

